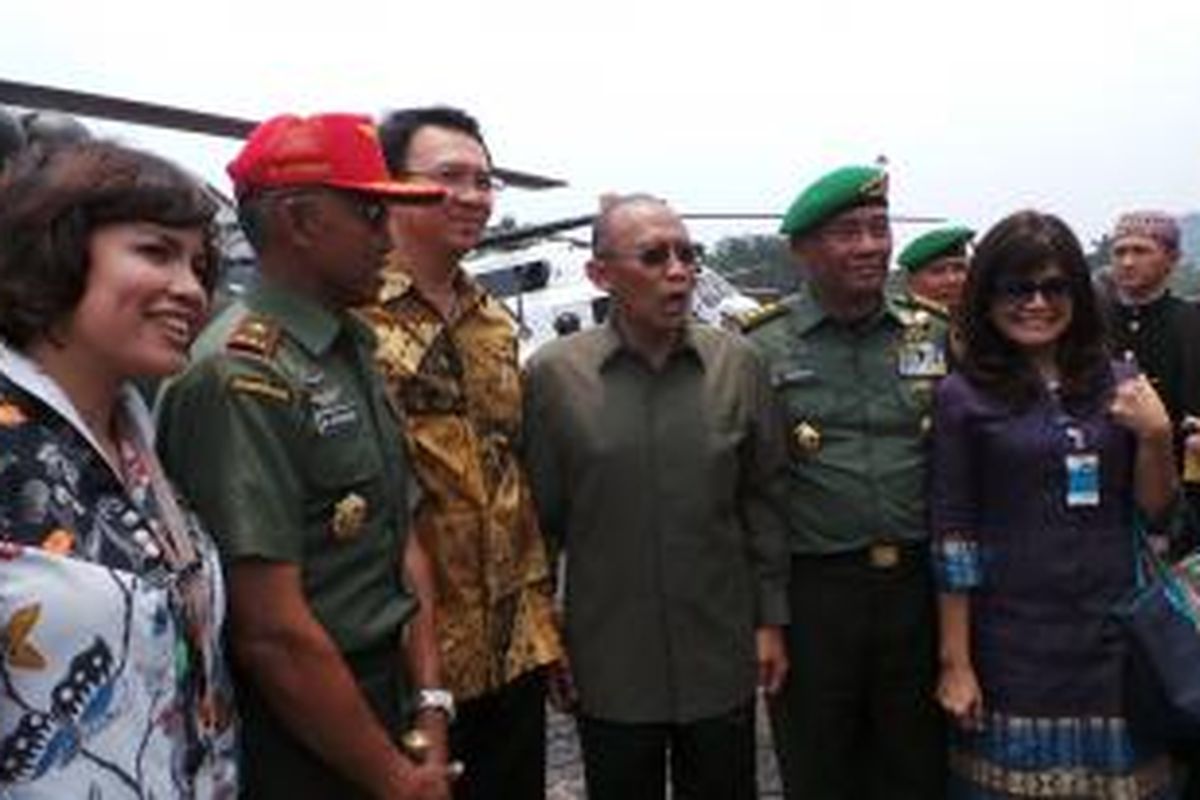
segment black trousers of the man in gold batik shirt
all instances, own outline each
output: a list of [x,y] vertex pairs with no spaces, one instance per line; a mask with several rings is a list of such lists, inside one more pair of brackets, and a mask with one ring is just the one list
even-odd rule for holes
[[458,705],[450,752],[467,768],[455,800],[546,796],[546,674],[521,675]]

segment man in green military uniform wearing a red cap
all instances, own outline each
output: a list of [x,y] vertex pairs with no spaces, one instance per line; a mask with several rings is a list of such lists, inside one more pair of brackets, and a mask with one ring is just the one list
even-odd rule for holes
[[[445,192],[394,182],[352,114],[274,118],[229,175],[263,281],[164,390],[158,445],[224,561],[242,796],[448,800],[444,714],[404,714],[439,685],[432,576],[376,339],[350,313],[379,288],[386,204]],[[169,299],[157,313],[170,324]]]

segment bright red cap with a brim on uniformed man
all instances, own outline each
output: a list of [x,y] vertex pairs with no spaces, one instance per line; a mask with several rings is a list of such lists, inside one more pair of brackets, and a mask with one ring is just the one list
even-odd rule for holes
[[439,203],[440,186],[404,184],[388,174],[374,122],[362,114],[282,114],[250,134],[226,168],[234,192],[332,186],[398,203]]

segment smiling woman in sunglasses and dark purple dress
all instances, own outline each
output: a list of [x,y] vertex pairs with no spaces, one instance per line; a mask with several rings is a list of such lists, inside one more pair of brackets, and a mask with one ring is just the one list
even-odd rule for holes
[[1057,217],[988,231],[960,325],[931,504],[950,795],[1170,798],[1169,759],[1126,724],[1110,618],[1134,581],[1135,509],[1154,518],[1176,494],[1163,404],[1108,360]]

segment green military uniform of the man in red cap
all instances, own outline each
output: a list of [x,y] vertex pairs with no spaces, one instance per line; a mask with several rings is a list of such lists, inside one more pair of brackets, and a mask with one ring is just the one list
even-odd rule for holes
[[[191,367],[164,391],[160,450],[223,559],[300,566],[313,615],[398,734],[401,630],[416,607],[401,571],[409,473],[373,349],[349,314],[260,287],[206,329]],[[248,796],[337,780],[250,681],[240,688]],[[257,783],[281,777],[288,786]]]

